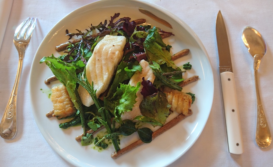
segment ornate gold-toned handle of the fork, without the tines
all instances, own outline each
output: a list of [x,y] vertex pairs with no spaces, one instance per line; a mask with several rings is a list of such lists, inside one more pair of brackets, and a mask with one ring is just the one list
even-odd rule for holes
[[19,53],[19,63],[16,74],[16,79],[14,86],[10,95],[10,100],[7,103],[6,110],[4,112],[1,124],[0,124],[0,136],[4,139],[12,139],[17,130],[17,121],[16,121],[16,103],[17,103],[17,90],[20,83],[20,76],[23,66],[23,58],[25,55],[25,46],[22,42],[19,42],[16,46]]

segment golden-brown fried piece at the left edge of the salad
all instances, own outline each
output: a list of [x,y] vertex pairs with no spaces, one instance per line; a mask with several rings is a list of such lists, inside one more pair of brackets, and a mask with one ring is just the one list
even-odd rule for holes
[[56,116],[58,119],[69,117],[76,112],[64,85],[53,87],[50,99],[53,102],[54,113],[52,116]]

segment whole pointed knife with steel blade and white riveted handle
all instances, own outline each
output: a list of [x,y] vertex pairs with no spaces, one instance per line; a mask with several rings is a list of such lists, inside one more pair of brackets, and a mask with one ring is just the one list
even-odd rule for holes
[[232,70],[226,26],[220,10],[216,18],[216,39],[228,152],[231,154],[242,154],[242,129],[239,117],[235,80]]

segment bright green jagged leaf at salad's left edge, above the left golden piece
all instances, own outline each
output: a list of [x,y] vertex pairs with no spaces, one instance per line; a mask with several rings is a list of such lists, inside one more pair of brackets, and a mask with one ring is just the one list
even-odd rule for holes
[[66,63],[59,58],[55,58],[52,54],[49,57],[43,57],[40,60],[40,64],[45,62],[46,65],[51,69],[52,73],[57,77],[57,79],[64,84],[71,98],[71,101],[74,103],[76,109],[79,109],[79,104],[76,101],[76,95],[74,93],[76,88],[76,79],[69,75],[68,71],[76,76],[76,67]]

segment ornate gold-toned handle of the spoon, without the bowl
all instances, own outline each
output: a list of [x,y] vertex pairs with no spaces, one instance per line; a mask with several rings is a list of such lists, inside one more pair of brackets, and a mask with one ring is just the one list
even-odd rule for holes
[[259,85],[258,85],[258,68],[261,62],[261,56],[254,56],[254,78],[257,98],[257,130],[256,130],[256,142],[257,145],[266,148],[271,143],[271,134],[266,121],[266,116],[263,112],[263,106],[260,99]]

